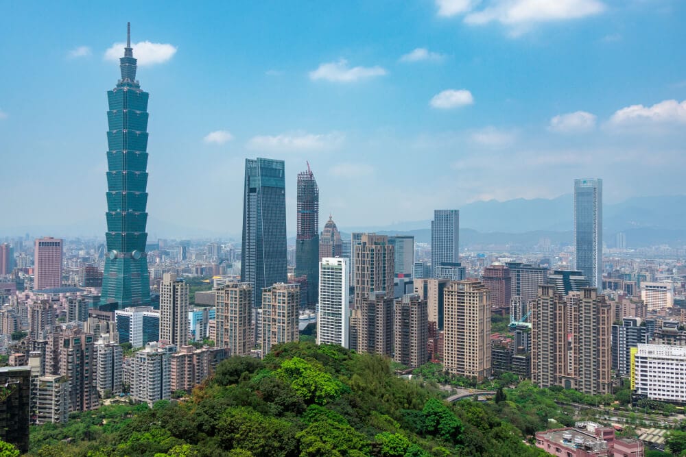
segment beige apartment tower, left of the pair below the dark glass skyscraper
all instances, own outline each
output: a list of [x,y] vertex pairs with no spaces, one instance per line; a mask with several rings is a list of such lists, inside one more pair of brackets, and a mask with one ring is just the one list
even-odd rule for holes
[[232,356],[247,356],[252,341],[252,284],[228,282],[215,289],[217,347],[228,347]]

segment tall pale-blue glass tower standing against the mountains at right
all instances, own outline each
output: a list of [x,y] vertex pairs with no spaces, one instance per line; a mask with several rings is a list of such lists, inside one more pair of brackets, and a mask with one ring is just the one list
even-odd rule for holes
[[574,180],[574,261],[592,287],[602,289],[602,180]]

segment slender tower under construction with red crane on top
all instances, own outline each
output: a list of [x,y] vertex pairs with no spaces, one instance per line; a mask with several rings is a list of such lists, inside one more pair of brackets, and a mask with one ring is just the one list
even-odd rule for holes
[[296,276],[307,276],[305,303],[317,303],[319,283],[319,187],[309,169],[298,173]]

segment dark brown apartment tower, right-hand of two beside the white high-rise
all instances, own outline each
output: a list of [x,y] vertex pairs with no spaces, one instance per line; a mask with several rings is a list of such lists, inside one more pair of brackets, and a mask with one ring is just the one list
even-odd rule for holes
[[421,367],[429,361],[427,301],[407,294],[395,301],[393,359],[406,367]]

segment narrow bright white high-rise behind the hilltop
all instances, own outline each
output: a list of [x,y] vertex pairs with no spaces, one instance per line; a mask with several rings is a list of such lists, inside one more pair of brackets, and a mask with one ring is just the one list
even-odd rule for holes
[[317,344],[350,347],[349,278],[348,259],[324,257],[319,262]]

